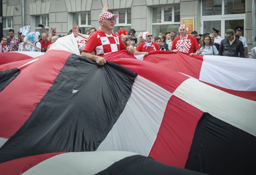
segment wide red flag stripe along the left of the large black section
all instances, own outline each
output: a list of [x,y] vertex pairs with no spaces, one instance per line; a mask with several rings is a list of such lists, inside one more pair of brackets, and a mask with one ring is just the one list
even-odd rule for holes
[[61,50],[51,52],[21,71],[15,81],[0,92],[0,137],[10,138],[25,123],[71,55]]

